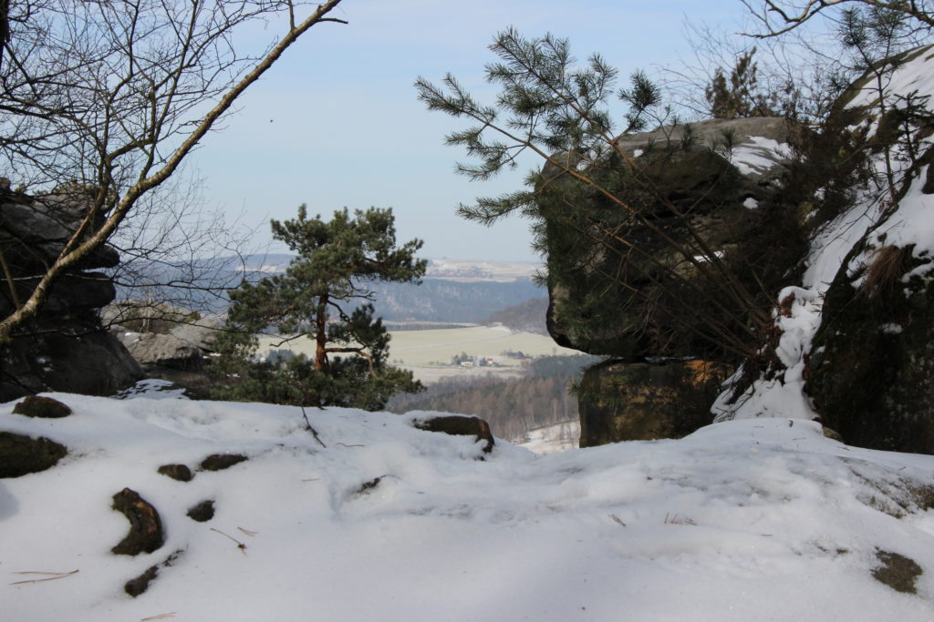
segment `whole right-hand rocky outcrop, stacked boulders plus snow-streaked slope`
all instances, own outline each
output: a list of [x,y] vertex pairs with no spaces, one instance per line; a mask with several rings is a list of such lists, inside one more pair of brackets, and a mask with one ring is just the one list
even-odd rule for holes
[[[787,150],[776,148],[785,138],[773,119],[710,121],[693,132],[620,139],[645,175],[635,191],[622,185],[620,196],[658,218],[658,229],[672,231],[677,241],[663,209],[667,204],[673,213],[675,205],[696,219],[695,230],[747,291],[773,292],[771,299],[755,298],[771,317],[757,318],[755,339],[744,338],[751,347],[735,361],[741,373],[716,399],[717,421],[817,419],[826,434],[848,444],[934,453],[932,64],[934,46],[876,63],[843,93],[820,132],[801,132],[795,141],[800,159],[791,162],[784,161]],[[878,80],[879,74],[890,75]],[[761,129],[752,129],[757,123]],[[723,132],[729,127],[736,130],[732,138]],[[717,132],[724,139],[719,146],[712,144]],[[736,140],[742,135],[745,143]],[[681,145],[672,150],[677,140]],[[640,194],[646,185],[653,188],[648,196]],[[658,355],[730,360],[668,323],[696,313],[731,330],[729,313],[712,314],[709,300],[691,297],[693,288],[704,286],[699,270],[672,264],[663,246],[639,237],[638,227],[625,230],[631,247],[629,253],[614,249],[623,257],[618,266],[607,263],[610,253],[591,252],[579,266],[581,284],[566,278],[552,289],[556,340],[622,359],[587,372],[582,445],[682,433],[672,425],[684,418],[665,412],[670,396],[693,389],[670,388],[673,372],[652,363]],[[769,230],[772,237],[763,237]],[[566,259],[567,249],[556,250],[558,261]],[[744,264],[753,267],[745,275]],[[684,300],[658,292],[659,283],[668,284],[664,270],[682,277],[670,289]],[[619,275],[626,291],[615,285]],[[743,281],[750,276],[757,285]],[[603,305],[594,308],[607,321],[597,312],[560,316],[563,301],[587,310],[587,296]],[[710,395],[697,399],[711,405]]]

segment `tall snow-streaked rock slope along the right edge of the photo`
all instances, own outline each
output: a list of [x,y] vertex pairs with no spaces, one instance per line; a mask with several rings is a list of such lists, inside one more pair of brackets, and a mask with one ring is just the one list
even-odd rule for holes
[[[934,139],[909,109],[931,105],[932,63],[932,46],[887,59],[836,104],[824,140],[844,157],[810,201],[824,222],[800,287],[778,297],[781,368],[721,395],[718,421],[819,419],[851,445],[934,453]],[[846,202],[825,204],[831,182]]]

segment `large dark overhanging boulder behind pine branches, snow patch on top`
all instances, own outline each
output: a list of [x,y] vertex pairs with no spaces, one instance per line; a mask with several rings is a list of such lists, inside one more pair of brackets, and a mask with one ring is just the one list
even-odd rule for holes
[[[620,215],[625,209],[592,190],[571,200],[589,201],[601,224],[579,224],[579,235],[569,236],[573,227],[566,209],[544,210],[552,338],[565,347],[629,361],[721,356],[709,339],[697,338],[703,328],[685,320],[693,314],[729,326],[737,319],[710,296],[717,285],[708,283],[710,273],[674,252],[672,242],[696,246],[699,237],[719,260],[732,264],[747,289],[760,291],[757,278],[782,263],[765,259],[768,253],[794,255],[799,239],[803,243],[795,234],[796,208],[778,192],[793,131],[785,119],[758,117],[714,119],[617,139],[627,159],[614,165],[623,180],[616,182],[614,194],[647,222],[626,222]],[[568,163],[587,171],[581,162]],[[562,194],[571,183],[551,164],[543,177]],[[614,239],[619,230],[623,235]],[[773,239],[778,231],[781,241]],[[756,266],[754,276],[751,267],[757,263],[766,267]],[[765,281],[784,276],[775,271]]]

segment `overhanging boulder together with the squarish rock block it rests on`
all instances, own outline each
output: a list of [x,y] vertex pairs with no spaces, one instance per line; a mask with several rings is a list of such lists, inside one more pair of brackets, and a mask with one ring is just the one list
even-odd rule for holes
[[[601,208],[592,190],[576,198],[596,208],[604,230],[623,230],[616,240],[596,229],[569,239],[566,215],[543,210],[548,331],[562,346],[614,359],[582,382],[582,447],[678,437],[712,421],[710,405],[735,355],[709,338],[711,326],[740,331],[743,322],[710,295],[722,284],[674,252],[672,241],[706,246],[747,291],[786,279],[805,248],[797,207],[779,192],[795,131],[785,119],[757,117],[620,137],[630,161],[616,162],[622,181],[614,194],[645,221],[620,222],[625,209]],[[546,165],[543,176],[567,185],[558,167]]]

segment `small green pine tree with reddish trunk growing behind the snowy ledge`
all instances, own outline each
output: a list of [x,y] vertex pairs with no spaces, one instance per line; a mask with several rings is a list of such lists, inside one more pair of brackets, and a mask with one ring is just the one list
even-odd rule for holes
[[[229,330],[211,366],[215,397],[377,410],[396,392],[420,391],[412,372],[388,365],[389,334],[371,302],[375,282],[418,283],[427,265],[415,257],[422,242],[396,245],[390,209],[343,209],[325,222],[302,205],[297,218],[272,228],[298,256],[284,274],[231,291]],[[312,339],[314,355],[257,360],[257,334],[270,326],[283,341]]]

